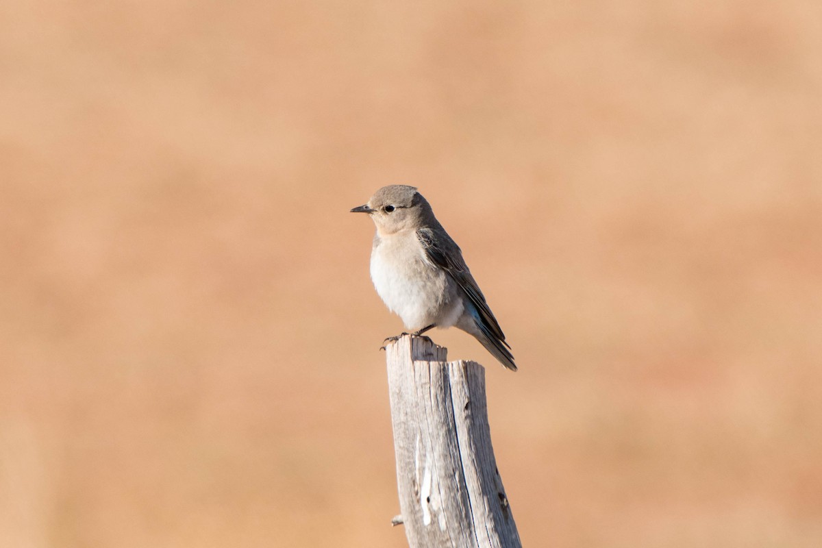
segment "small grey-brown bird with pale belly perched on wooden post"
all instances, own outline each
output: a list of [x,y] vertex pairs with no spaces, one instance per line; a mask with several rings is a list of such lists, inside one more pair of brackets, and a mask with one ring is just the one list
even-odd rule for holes
[[376,225],[371,279],[377,294],[406,329],[414,336],[434,327],[462,329],[503,366],[517,370],[506,336],[462,251],[417,187],[382,187],[351,213],[368,214]]

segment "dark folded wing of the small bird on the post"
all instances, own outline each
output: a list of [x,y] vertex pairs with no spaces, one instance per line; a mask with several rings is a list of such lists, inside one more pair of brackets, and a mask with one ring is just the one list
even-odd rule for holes
[[483,292],[479,290],[477,282],[474,281],[468,265],[462,258],[462,251],[459,250],[456,242],[446,233],[445,230],[432,230],[432,228],[419,228],[417,230],[419,242],[423,245],[425,254],[433,264],[445,270],[452,279],[468,296],[469,300],[476,307],[483,324],[502,343],[506,343],[506,335],[502,333],[500,325],[496,322],[488,303],[485,302]]

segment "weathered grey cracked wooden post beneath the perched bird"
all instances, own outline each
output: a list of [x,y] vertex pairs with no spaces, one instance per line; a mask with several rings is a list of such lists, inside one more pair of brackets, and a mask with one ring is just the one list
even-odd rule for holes
[[520,547],[496,469],[485,370],[405,335],[386,346],[397,485],[411,548]]

